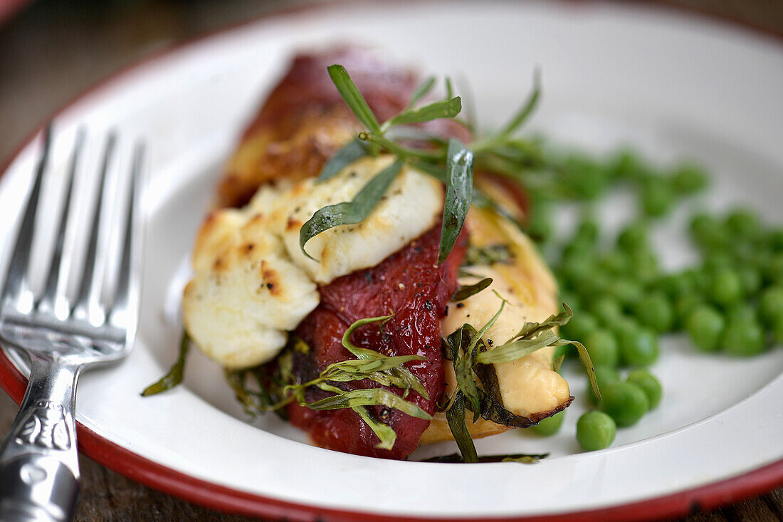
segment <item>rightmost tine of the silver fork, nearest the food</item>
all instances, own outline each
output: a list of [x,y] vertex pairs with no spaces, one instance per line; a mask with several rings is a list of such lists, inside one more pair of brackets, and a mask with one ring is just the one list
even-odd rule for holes
[[117,276],[117,292],[114,295],[109,321],[121,328],[128,328],[128,339],[135,334],[136,315],[138,314],[139,281],[139,223],[141,214],[141,194],[143,189],[142,170],[144,145],[137,143],[133,151],[131,181],[128,187],[128,207],[124,216],[124,234],[122,237],[120,270]]

